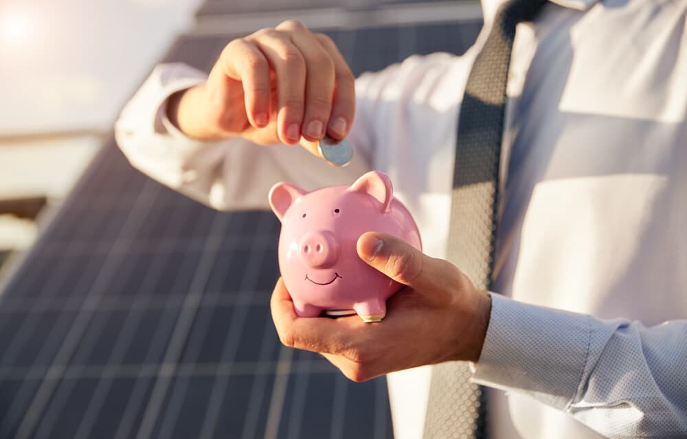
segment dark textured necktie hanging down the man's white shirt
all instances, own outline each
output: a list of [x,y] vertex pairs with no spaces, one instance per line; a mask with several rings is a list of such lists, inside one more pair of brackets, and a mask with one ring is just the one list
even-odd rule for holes
[[[509,0],[501,5],[475,58],[460,108],[447,259],[478,289],[491,287],[506,80],[515,26],[530,21],[544,1]],[[470,376],[463,362],[433,367],[425,439],[486,438],[486,399],[480,387],[469,382]]]

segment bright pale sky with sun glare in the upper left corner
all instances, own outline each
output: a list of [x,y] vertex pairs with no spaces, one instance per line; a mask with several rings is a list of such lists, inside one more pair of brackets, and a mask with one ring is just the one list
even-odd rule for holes
[[111,128],[200,0],[0,0],[0,138]]

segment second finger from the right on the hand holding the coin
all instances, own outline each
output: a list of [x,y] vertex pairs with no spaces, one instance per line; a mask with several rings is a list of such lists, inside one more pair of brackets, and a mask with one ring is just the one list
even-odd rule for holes
[[303,54],[307,73],[302,134],[310,141],[317,141],[324,137],[332,112],[334,61],[313,33],[299,21],[284,21],[277,29],[288,32],[293,44]]

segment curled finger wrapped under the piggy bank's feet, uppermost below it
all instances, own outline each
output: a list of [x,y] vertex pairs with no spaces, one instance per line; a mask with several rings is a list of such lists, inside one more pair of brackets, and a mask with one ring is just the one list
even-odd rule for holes
[[355,324],[353,319],[342,324],[345,318],[297,317],[289,291],[286,291],[281,278],[272,293],[270,308],[274,326],[284,346],[313,352],[352,352],[350,324]]

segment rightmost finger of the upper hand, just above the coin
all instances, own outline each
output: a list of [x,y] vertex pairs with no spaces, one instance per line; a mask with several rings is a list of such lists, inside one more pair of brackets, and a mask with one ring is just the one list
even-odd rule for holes
[[332,39],[324,34],[315,34],[315,37],[334,61],[335,89],[327,133],[335,139],[343,139],[355,116],[355,78]]

